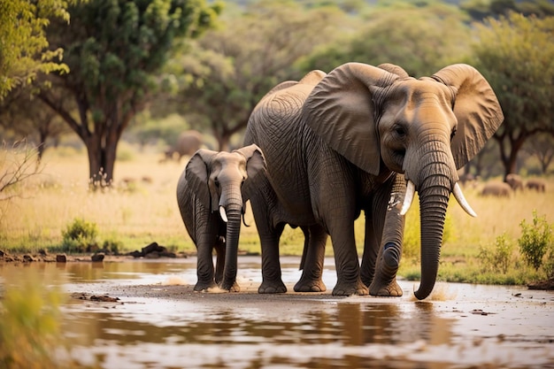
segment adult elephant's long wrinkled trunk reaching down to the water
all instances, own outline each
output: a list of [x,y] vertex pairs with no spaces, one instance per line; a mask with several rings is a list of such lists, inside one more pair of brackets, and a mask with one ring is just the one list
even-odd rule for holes
[[[452,183],[458,181],[450,148],[427,150],[420,161],[419,216],[421,227],[421,282],[415,296],[422,300],[435,287],[442,246],[442,233]],[[423,152],[426,152],[425,150]]]

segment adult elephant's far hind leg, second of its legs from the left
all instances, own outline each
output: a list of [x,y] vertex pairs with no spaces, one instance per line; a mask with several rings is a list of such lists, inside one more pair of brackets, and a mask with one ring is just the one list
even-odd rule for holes
[[327,232],[318,225],[309,227],[304,235],[307,242],[304,242],[305,259],[301,265],[303,272],[294,289],[296,292],[323,292],[327,289],[321,279]]

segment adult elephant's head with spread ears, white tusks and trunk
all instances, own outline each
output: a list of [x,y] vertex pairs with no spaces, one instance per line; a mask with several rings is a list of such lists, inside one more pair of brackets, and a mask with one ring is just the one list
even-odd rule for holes
[[504,119],[495,93],[470,65],[450,65],[418,80],[400,67],[348,63],[313,88],[304,104],[309,127],[367,173],[404,173],[400,211],[419,192],[421,283],[436,280],[450,193],[471,215],[457,170],[477,154]]

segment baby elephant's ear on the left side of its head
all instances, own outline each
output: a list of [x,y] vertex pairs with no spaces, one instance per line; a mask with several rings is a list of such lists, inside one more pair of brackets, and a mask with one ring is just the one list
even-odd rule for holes
[[219,198],[209,186],[210,166],[212,159],[217,151],[200,149],[190,158],[185,169],[185,179],[189,183],[189,188],[195,193],[196,198],[200,200],[205,207],[210,207],[212,211],[218,210]]

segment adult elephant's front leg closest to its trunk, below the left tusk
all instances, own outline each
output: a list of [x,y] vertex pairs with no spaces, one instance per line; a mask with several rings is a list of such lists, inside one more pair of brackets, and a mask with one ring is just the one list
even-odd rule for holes
[[[387,188],[387,186],[385,186]],[[373,281],[369,293],[373,296],[402,296],[396,282],[396,272],[402,256],[404,216],[398,204],[404,202],[404,176],[396,175],[389,194],[378,194],[373,201],[373,225],[377,240],[381,240]],[[389,200],[389,203],[387,203]]]

